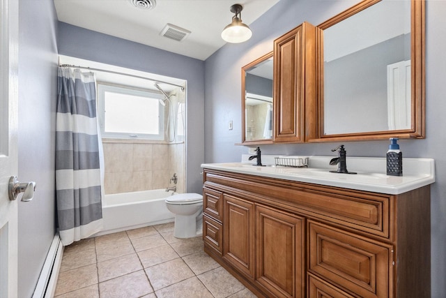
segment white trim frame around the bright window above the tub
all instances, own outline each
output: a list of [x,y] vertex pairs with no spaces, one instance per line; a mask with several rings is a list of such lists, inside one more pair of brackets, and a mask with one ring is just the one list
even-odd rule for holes
[[104,102],[104,94],[105,91],[111,91],[114,93],[120,93],[120,94],[128,94],[132,96],[144,96],[144,97],[150,97],[150,98],[156,98],[163,99],[164,96],[162,94],[157,94],[152,91],[142,91],[141,89],[135,89],[133,87],[123,87],[123,86],[114,86],[110,84],[104,84],[101,82],[98,82],[98,110],[97,116],[100,126],[100,133],[103,138],[114,138],[114,139],[126,139],[126,140],[164,140],[164,106],[158,105],[158,108],[160,109],[158,111],[159,113],[159,127],[160,127],[160,133],[155,134],[144,134],[144,133],[109,133],[104,131],[104,124],[105,124],[105,102]]

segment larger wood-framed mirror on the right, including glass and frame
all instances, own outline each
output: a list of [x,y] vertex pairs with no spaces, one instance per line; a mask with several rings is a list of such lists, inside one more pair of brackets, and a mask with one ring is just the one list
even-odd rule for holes
[[424,138],[424,16],[365,0],[318,26],[318,140]]

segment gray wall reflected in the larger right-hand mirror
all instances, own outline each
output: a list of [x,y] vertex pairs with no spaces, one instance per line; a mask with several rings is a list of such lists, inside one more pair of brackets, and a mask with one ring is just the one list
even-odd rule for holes
[[410,60],[410,50],[405,50],[410,49],[410,35],[406,35],[325,62],[325,133],[389,129],[387,65]]

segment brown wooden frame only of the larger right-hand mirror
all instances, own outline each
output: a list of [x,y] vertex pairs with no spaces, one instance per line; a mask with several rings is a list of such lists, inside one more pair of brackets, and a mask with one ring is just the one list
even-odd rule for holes
[[322,29],[318,31],[317,51],[317,139],[316,142],[338,142],[338,141],[361,141],[361,140],[383,140],[389,137],[422,139],[425,137],[425,70],[424,70],[424,47],[425,47],[425,1],[411,0],[410,4],[410,59],[411,59],[411,128],[396,131],[372,131],[366,133],[345,133],[324,135],[324,77],[323,77],[323,30],[345,20],[355,13],[380,2],[381,0],[364,0],[357,5],[345,10],[330,20],[318,25]]

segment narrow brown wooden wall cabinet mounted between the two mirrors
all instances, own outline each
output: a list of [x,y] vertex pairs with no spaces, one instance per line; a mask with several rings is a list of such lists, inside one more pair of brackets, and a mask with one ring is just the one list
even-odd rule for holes
[[316,135],[316,30],[304,22],[274,41],[272,142],[305,142]]

